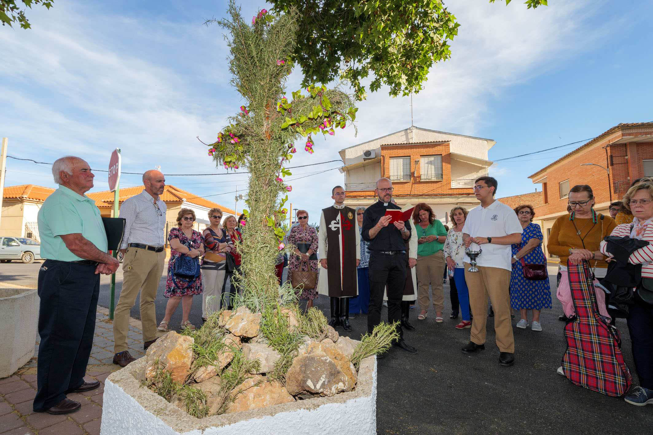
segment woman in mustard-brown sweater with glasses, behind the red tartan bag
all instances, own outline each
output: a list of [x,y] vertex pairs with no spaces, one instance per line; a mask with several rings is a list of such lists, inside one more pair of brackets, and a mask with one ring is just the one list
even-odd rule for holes
[[[587,260],[594,277],[604,278],[608,264],[605,262],[605,256],[599,251],[599,245],[603,237],[614,230],[616,224],[613,218],[594,211],[594,193],[588,185],[572,187],[567,200],[571,206],[571,214],[556,219],[551,228],[547,249],[550,254],[560,257],[560,284],[556,295],[562,302],[565,316],[571,318],[575,315],[575,308],[569,288],[567,260],[575,264]],[[596,299],[599,312],[610,318],[605,307],[605,293],[597,290]]]

